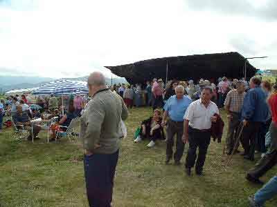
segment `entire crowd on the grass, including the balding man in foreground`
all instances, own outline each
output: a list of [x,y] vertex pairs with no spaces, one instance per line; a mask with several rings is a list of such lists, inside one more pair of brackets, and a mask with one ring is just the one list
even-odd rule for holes
[[[57,127],[68,126],[72,119],[80,116],[84,174],[91,206],[109,206],[111,203],[127,108],[152,107],[152,116],[145,117],[136,130],[134,143],[149,139],[147,146],[152,148],[158,140],[166,141],[166,165],[173,160],[179,166],[188,144],[184,164],[188,176],[193,175],[193,168],[196,175],[204,175],[211,137],[221,142],[224,121],[220,109],[223,108],[228,118],[225,124],[228,130],[226,155],[240,153],[244,160],[254,161],[260,152],[258,163],[246,173],[246,179],[263,184],[260,177],[277,164],[277,85],[262,81],[260,77],[252,77],[249,82],[222,77],[216,82],[213,79],[199,79],[197,83],[171,80],[166,84],[162,79],[153,79],[136,86],[123,83],[107,88],[105,77],[100,72],[93,72],[88,87],[91,101],[77,95],[65,99],[62,104],[63,101],[53,95],[39,96],[35,102],[42,108],[39,111],[30,110],[32,101],[28,95],[22,95],[21,99],[7,97],[6,101],[1,100],[0,114],[10,112],[17,124],[27,127],[33,118],[60,117],[51,127],[53,139]],[[62,109],[66,111],[63,116]],[[39,130],[41,127],[35,126],[35,136]],[[251,195],[249,201],[251,206],[262,206],[276,194],[277,176]]]

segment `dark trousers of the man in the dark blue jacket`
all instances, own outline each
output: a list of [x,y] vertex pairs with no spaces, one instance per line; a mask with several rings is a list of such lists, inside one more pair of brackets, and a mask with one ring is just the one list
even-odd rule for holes
[[261,124],[262,122],[249,121],[242,131],[242,147],[244,148],[245,154],[249,155],[251,159],[254,158],[256,136],[258,136]]

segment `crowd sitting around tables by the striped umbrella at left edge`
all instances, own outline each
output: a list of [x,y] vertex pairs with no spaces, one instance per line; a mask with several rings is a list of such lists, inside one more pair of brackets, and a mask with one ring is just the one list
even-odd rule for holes
[[[51,125],[49,134],[50,141],[55,141],[57,132],[66,130],[72,119],[80,117],[81,111],[87,103],[87,97],[75,95],[70,97],[38,96],[36,99],[30,98],[28,94],[6,97],[6,101],[1,99],[0,103],[0,132],[3,126],[3,117],[17,126],[29,131],[27,139],[29,141],[39,139],[39,131],[42,126],[39,121],[32,123],[35,119],[56,118],[56,123]],[[11,119],[11,120],[10,120]]]

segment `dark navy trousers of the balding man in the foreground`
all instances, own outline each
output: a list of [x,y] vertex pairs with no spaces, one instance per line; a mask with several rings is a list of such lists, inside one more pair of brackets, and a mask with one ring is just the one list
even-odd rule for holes
[[114,154],[84,155],[84,178],[90,207],[110,207],[118,151]]

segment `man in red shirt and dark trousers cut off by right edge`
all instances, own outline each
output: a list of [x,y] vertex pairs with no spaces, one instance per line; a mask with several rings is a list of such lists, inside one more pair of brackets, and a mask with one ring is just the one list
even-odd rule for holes
[[273,92],[268,99],[269,108],[271,109],[272,122],[269,127],[271,136],[271,146],[265,157],[247,173],[247,179],[253,183],[262,184],[260,177],[277,164],[277,84],[273,86]]

